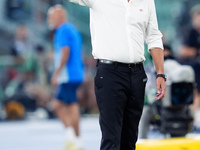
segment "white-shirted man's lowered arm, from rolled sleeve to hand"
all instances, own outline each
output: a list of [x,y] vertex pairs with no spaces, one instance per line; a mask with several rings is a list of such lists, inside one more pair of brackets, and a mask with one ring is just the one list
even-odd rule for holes
[[[148,27],[146,30],[146,43],[148,45],[149,52],[153,58],[157,74],[164,74],[164,55],[163,55],[163,43],[162,34],[158,29],[158,22],[156,16],[156,8],[154,0],[149,0],[150,16],[148,21]],[[158,77],[156,80],[157,95],[156,99],[159,100],[164,97],[166,87],[165,80],[162,77]]]

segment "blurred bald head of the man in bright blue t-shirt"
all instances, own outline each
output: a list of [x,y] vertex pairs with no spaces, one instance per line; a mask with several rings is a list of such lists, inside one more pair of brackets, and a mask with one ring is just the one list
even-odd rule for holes
[[55,5],[48,10],[48,23],[50,28],[58,28],[66,22],[67,11],[62,5]]

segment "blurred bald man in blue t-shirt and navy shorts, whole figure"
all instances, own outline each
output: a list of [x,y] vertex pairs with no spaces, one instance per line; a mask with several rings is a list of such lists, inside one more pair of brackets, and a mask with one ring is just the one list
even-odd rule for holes
[[76,90],[84,79],[82,39],[77,29],[66,22],[66,15],[67,12],[61,5],[55,5],[48,11],[49,26],[56,30],[55,71],[52,77],[56,94],[52,106],[66,127],[68,141],[80,147]]

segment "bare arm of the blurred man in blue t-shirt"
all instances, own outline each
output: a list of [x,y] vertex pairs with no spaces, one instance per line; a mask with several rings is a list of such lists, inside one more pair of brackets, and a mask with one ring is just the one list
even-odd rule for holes
[[68,59],[69,59],[69,47],[65,46],[61,49],[62,51],[62,56],[61,56],[61,61],[60,61],[60,65],[58,66],[58,68],[55,69],[53,77],[52,77],[52,85],[54,87],[57,86],[57,81],[58,81],[58,77],[63,69],[63,67],[66,65]]

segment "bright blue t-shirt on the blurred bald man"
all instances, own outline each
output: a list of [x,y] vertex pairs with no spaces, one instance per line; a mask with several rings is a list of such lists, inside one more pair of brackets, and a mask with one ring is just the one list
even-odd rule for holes
[[69,47],[69,59],[63,67],[58,83],[82,82],[84,66],[82,61],[82,39],[77,29],[70,23],[60,25],[54,36],[55,68],[61,62],[62,48]]

